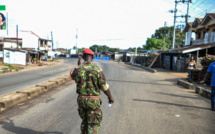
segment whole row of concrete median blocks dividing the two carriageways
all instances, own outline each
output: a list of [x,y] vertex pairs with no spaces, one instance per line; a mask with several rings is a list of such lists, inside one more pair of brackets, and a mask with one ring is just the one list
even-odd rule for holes
[[4,95],[0,97],[0,111],[5,111],[11,107],[16,106],[19,103],[30,100],[70,80],[71,78],[69,75],[63,75],[61,77],[40,83],[38,85],[24,88],[22,90],[16,91],[15,93]]

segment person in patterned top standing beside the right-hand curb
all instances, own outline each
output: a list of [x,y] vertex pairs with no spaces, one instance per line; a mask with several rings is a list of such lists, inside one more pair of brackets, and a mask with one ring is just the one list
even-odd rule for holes
[[196,62],[194,60],[194,57],[191,56],[190,60],[187,62],[186,70],[188,71],[188,81],[192,83],[193,80],[193,71],[196,69]]

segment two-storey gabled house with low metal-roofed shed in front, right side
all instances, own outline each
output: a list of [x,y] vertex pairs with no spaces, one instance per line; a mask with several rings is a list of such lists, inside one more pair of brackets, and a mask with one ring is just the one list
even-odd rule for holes
[[195,57],[197,67],[201,67],[200,57],[206,54],[215,55],[215,13],[208,13],[204,18],[196,18],[187,23],[183,32],[186,33],[183,47],[162,51],[161,67],[173,71],[186,71],[186,63]]

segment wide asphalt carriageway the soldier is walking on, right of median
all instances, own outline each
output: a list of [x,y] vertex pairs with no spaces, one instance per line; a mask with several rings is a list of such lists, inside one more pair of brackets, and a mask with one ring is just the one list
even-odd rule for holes
[[[100,134],[214,134],[210,101],[175,84],[168,74],[152,74],[115,62],[104,70],[115,104],[102,94]],[[74,82],[65,83],[0,115],[1,134],[79,134]]]

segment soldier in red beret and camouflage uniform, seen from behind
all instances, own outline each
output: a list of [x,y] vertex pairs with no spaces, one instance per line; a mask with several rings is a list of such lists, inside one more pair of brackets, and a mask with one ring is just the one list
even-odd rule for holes
[[77,85],[82,134],[98,134],[102,121],[102,101],[99,98],[101,90],[108,96],[109,103],[114,103],[102,69],[92,63],[93,57],[93,51],[85,48],[83,50],[84,63],[76,67],[71,74]]

